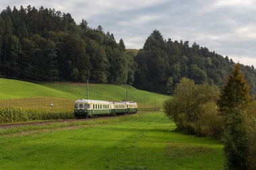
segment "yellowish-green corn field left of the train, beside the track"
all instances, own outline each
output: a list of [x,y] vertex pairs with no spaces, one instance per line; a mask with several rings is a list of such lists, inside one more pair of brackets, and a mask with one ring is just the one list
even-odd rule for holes
[[29,97],[0,101],[0,124],[74,118],[73,99]]

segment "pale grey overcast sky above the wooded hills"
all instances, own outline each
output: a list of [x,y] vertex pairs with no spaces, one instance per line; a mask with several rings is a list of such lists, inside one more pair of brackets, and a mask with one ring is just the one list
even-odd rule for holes
[[28,5],[70,13],[76,24],[121,38],[126,48],[143,48],[153,30],[164,39],[195,42],[243,65],[256,68],[255,0],[8,0],[0,9]]

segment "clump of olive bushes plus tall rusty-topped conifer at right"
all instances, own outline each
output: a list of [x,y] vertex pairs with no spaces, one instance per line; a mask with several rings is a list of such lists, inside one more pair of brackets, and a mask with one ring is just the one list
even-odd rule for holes
[[236,63],[221,93],[216,85],[181,79],[172,97],[164,101],[164,112],[177,130],[221,138],[224,169],[256,169],[256,103],[249,91]]

